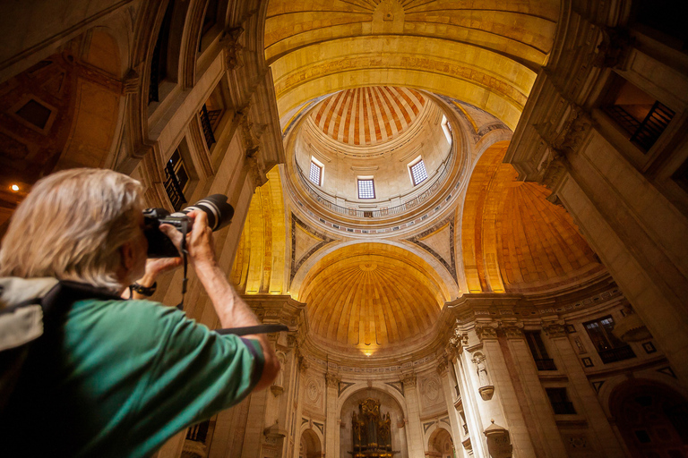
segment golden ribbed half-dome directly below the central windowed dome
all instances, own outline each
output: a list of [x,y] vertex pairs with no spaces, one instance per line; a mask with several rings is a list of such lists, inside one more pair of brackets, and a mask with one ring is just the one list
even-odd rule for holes
[[305,279],[299,300],[308,304],[311,329],[329,342],[371,352],[419,338],[443,300],[425,264],[400,258],[400,249],[363,243],[325,257]]

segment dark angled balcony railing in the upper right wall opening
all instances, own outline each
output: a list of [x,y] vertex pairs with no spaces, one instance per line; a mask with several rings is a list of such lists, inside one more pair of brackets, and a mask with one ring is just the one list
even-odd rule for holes
[[624,110],[622,106],[607,106],[605,112],[631,135],[632,143],[644,151],[652,148],[662,132],[667,129],[667,125],[675,114],[674,111],[659,102],[655,102],[642,123]]

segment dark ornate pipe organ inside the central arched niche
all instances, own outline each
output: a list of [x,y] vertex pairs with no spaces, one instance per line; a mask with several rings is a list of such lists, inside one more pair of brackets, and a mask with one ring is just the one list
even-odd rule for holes
[[353,458],[392,458],[399,451],[391,450],[390,412],[382,414],[380,401],[368,398],[358,404],[358,413],[351,412]]

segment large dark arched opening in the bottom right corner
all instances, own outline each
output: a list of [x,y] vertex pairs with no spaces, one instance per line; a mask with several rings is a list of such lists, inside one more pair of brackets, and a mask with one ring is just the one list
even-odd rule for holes
[[632,457],[688,455],[688,401],[668,386],[628,381],[612,393],[609,410]]

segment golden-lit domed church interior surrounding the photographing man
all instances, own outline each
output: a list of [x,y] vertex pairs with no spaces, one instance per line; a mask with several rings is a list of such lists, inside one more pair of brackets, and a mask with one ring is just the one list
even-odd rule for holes
[[[0,9],[0,235],[65,168],[225,194],[219,264],[289,329],[156,458],[688,457],[684,2]],[[219,327],[193,274],[185,313]]]

